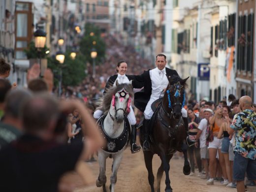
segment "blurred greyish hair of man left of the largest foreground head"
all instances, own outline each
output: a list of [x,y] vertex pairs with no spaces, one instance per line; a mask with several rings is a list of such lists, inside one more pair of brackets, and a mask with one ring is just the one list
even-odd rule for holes
[[32,98],[32,93],[25,89],[10,90],[4,100],[4,115],[19,118],[19,112],[23,102]]

